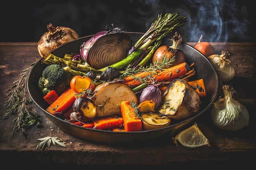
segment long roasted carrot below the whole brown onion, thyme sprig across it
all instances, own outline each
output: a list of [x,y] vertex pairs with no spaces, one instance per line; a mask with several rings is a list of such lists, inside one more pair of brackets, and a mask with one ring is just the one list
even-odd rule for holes
[[145,78],[147,76],[150,76],[151,78],[154,78],[155,82],[164,82],[164,81],[170,81],[171,79],[174,79],[181,75],[185,75],[190,70],[191,70],[190,66],[186,62],[184,62],[176,66],[166,68],[166,70],[163,70],[163,71],[162,70],[144,71],[144,72],[136,73],[134,75],[130,75],[124,78],[125,81],[123,81],[123,83],[126,84],[127,86],[130,86],[131,88],[134,88],[141,84],[141,81],[139,79],[135,80],[134,77]]

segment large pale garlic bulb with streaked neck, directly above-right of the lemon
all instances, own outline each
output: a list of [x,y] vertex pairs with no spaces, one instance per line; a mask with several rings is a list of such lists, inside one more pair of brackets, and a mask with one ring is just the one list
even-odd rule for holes
[[240,130],[249,123],[247,108],[232,98],[236,93],[233,87],[224,85],[222,89],[224,97],[213,104],[211,120],[223,130]]

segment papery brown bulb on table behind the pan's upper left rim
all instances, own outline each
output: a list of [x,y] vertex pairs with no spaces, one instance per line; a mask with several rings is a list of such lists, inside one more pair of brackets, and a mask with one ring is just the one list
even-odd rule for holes
[[37,49],[41,57],[57,47],[79,38],[76,31],[68,27],[55,27],[52,23],[49,23],[47,29],[49,32],[44,33],[37,43]]

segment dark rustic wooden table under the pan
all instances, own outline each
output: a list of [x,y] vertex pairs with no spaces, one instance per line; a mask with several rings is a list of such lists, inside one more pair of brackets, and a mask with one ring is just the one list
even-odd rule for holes
[[[196,43],[188,43],[194,46]],[[26,167],[27,169],[45,169],[57,165],[60,169],[70,168],[182,168],[189,166],[205,168],[218,164],[228,167],[245,167],[254,163],[256,154],[256,43],[212,43],[216,51],[229,51],[229,59],[236,69],[235,77],[228,82],[236,92],[233,98],[246,106],[249,125],[238,131],[220,130],[210,119],[210,110],[196,123],[211,146],[187,148],[176,146],[170,140],[163,144],[145,146],[110,146],[96,144],[79,139],[63,132],[47,119],[34,104],[32,110],[42,119],[42,128],[33,127],[27,131],[27,137],[21,132],[9,134],[13,119],[11,115],[3,119],[6,110],[2,107],[8,97],[6,90],[18,79],[23,69],[32,62],[40,60],[36,42],[0,42],[0,164],[8,167]],[[56,136],[65,142],[65,147],[54,146],[45,150],[36,150],[38,138]],[[246,166],[244,166],[246,165]]]

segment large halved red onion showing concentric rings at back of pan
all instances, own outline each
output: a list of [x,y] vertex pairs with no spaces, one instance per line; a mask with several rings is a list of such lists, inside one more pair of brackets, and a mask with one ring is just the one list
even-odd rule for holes
[[132,39],[129,35],[119,28],[111,28],[83,42],[80,55],[91,67],[100,69],[123,60],[131,48]]

